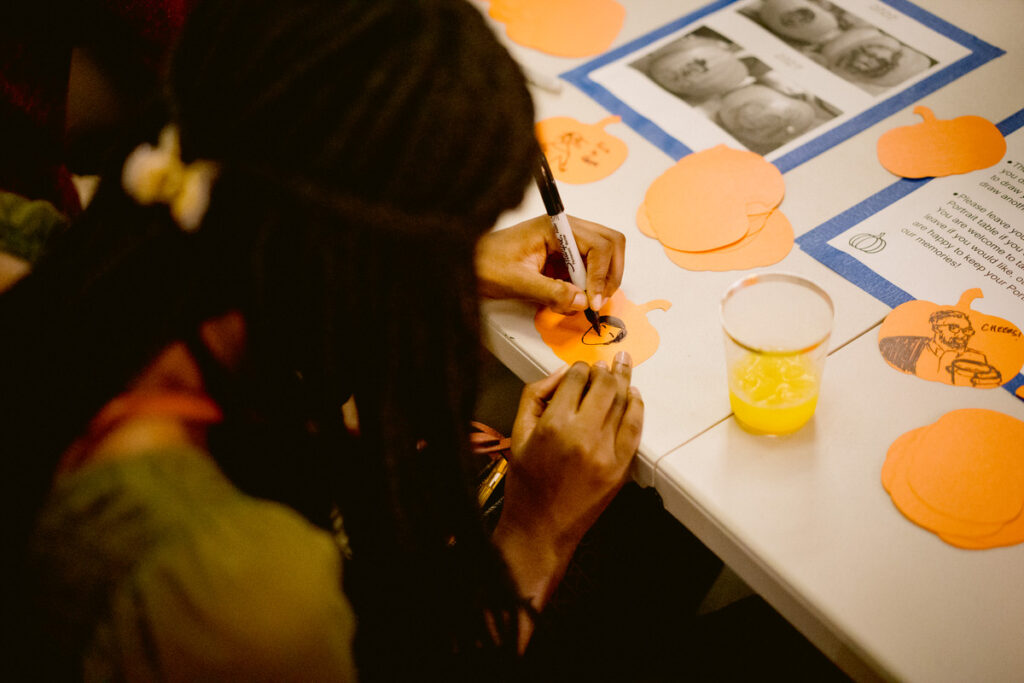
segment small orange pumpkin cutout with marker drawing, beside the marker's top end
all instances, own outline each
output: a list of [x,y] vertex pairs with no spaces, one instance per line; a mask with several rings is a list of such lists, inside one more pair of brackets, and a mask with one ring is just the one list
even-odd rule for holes
[[618,121],[622,117],[610,116],[586,124],[562,116],[538,122],[537,139],[551,164],[552,174],[574,184],[610,175],[629,154],[625,142],[604,131],[605,126]]

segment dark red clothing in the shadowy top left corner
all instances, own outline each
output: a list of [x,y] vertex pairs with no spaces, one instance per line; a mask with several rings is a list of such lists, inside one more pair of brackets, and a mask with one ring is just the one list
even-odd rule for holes
[[0,189],[74,215],[65,146],[72,48],[89,48],[120,90],[143,96],[195,0],[12,4],[0,22]]

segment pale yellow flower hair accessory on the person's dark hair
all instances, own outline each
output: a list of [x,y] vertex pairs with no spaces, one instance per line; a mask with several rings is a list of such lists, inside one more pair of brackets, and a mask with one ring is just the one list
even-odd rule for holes
[[185,232],[199,228],[210,204],[210,187],[220,167],[211,161],[181,161],[178,129],[174,124],[160,131],[160,142],[135,147],[121,172],[125,191],[142,206],[166,204],[174,222]]

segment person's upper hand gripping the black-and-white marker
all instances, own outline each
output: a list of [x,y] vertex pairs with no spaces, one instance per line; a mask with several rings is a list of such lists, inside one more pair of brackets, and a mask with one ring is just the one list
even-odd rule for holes
[[525,299],[569,314],[596,310],[623,281],[626,237],[604,225],[569,216],[587,266],[587,292],[568,282],[558,239],[548,216],[538,216],[483,236],[476,247],[480,295]]

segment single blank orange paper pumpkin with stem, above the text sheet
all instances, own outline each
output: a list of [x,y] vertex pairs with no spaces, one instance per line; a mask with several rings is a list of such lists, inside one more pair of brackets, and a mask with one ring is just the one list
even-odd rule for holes
[[927,106],[914,106],[924,119],[900,126],[879,138],[879,161],[904,178],[969,173],[988,168],[1007,153],[1007,140],[995,125],[979,116],[940,120]]

